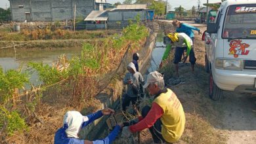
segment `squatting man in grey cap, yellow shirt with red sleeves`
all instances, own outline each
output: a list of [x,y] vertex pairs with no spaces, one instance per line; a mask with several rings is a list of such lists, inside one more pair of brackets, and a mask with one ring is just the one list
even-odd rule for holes
[[163,76],[158,71],[148,74],[146,88],[154,97],[152,107],[142,108],[142,116],[123,123],[122,137],[148,128],[154,143],[175,143],[184,132],[185,115],[176,94],[165,88]]

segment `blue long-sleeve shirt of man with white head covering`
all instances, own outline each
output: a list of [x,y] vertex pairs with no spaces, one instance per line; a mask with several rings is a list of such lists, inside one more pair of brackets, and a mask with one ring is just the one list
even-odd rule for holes
[[[86,122],[83,122],[82,128],[93,122],[94,120],[102,117],[102,112],[97,111],[96,113],[92,113],[90,115],[87,115],[88,119]],[[62,128],[58,129],[54,136],[54,144],[84,144],[84,139],[76,139],[76,138],[70,138],[66,135],[66,126],[63,126]],[[118,132],[120,131],[120,126],[116,126],[114,130],[104,139],[97,139],[93,141],[93,144],[108,144],[112,143],[114,139],[116,138]]]

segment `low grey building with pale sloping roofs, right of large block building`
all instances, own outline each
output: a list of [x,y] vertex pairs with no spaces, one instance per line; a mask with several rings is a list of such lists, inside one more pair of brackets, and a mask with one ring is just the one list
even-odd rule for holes
[[117,5],[116,9],[94,10],[85,18],[86,29],[120,29],[128,26],[129,21],[151,21],[154,18],[154,10],[147,9],[146,4]]

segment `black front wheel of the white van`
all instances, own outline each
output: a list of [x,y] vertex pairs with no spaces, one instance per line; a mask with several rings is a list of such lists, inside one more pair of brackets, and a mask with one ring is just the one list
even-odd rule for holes
[[211,99],[213,99],[214,101],[218,101],[219,99],[221,99],[221,96],[223,94],[223,90],[221,90],[213,81],[213,75],[210,73],[209,76],[209,96]]

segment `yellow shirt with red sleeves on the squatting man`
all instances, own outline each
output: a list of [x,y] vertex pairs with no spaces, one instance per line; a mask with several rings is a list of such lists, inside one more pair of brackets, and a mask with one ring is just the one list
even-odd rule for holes
[[160,118],[162,122],[161,134],[168,143],[175,143],[184,132],[185,115],[181,102],[170,89],[156,94],[152,108],[137,124],[129,126],[131,132],[138,132],[150,128]]

